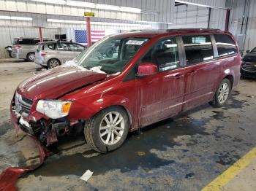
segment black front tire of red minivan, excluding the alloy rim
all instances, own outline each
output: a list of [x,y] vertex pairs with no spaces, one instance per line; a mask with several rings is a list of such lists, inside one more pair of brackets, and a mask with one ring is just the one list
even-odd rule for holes
[[[99,126],[101,125],[103,118],[110,112],[118,112],[124,119],[124,132],[121,138],[116,142],[116,144],[112,145],[105,144],[102,141],[101,136],[99,135]],[[127,112],[123,108],[121,108],[121,106],[110,106],[106,109],[103,109],[101,112],[94,115],[94,117],[91,117],[91,119],[86,121],[86,124],[84,126],[84,135],[87,144],[89,144],[92,149],[96,150],[97,152],[106,153],[117,149],[118,147],[121,147],[125,139],[127,139],[128,130],[129,118]]]

